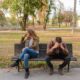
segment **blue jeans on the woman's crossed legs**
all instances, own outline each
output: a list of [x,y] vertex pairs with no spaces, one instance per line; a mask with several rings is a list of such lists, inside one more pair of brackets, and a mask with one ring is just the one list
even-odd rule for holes
[[19,59],[24,60],[24,67],[25,68],[29,68],[29,59],[31,58],[37,58],[38,53],[30,48],[24,48],[24,50],[22,51],[22,53],[19,56]]

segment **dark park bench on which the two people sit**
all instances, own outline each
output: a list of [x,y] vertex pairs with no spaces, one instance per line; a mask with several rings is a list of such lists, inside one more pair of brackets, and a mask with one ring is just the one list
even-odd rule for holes
[[[70,56],[71,56],[71,61],[77,61],[77,59],[75,57],[73,57],[73,48],[72,48],[72,44],[71,43],[67,43],[67,48],[69,50]],[[12,61],[15,61],[19,54],[22,51],[22,48],[24,48],[24,44],[15,44],[14,45],[14,57],[12,58]],[[31,61],[45,61],[45,56],[46,56],[46,48],[47,48],[47,44],[46,43],[40,43],[39,44],[39,55],[37,58],[31,59]],[[60,61],[60,59],[55,59],[55,61]],[[20,67],[18,65],[18,72],[20,70]],[[69,72],[70,69],[70,63],[68,64],[68,68],[67,71]]]

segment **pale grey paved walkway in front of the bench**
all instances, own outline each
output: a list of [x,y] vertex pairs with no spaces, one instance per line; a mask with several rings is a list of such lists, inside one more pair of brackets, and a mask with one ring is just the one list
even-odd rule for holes
[[[80,68],[73,68],[71,71],[65,72],[65,75],[61,76],[55,70],[55,74],[50,76],[48,72],[42,69],[30,70],[31,74],[27,80],[80,80]],[[12,69],[8,72],[8,69],[0,69],[0,80],[25,80],[24,71],[17,72]]]

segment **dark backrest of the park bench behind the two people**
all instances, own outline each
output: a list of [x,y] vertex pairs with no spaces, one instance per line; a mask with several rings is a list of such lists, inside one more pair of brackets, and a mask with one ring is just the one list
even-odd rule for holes
[[[67,43],[66,45],[67,45],[70,55],[73,56],[72,44]],[[18,56],[21,53],[22,48],[24,48],[24,44],[15,44],[14,46],[15,56]],[[43,58],[46,56],[46,49],[47,49],[46,43],[39,44],[39,56],[38,56],[39,58]]]

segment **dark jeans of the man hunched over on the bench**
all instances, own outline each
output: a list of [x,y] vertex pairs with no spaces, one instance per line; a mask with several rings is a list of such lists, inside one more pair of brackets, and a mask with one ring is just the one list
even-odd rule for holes
[[47,56],[45,58],[45,61],[50,69],[53,69],[53,64],[51,63],[51,60],[54,59],[62,59],[64,61],[61,65],[59,65],[59,68],[62,69],[70,62],[71,57],[69,55],[65,56],[63,53]]

